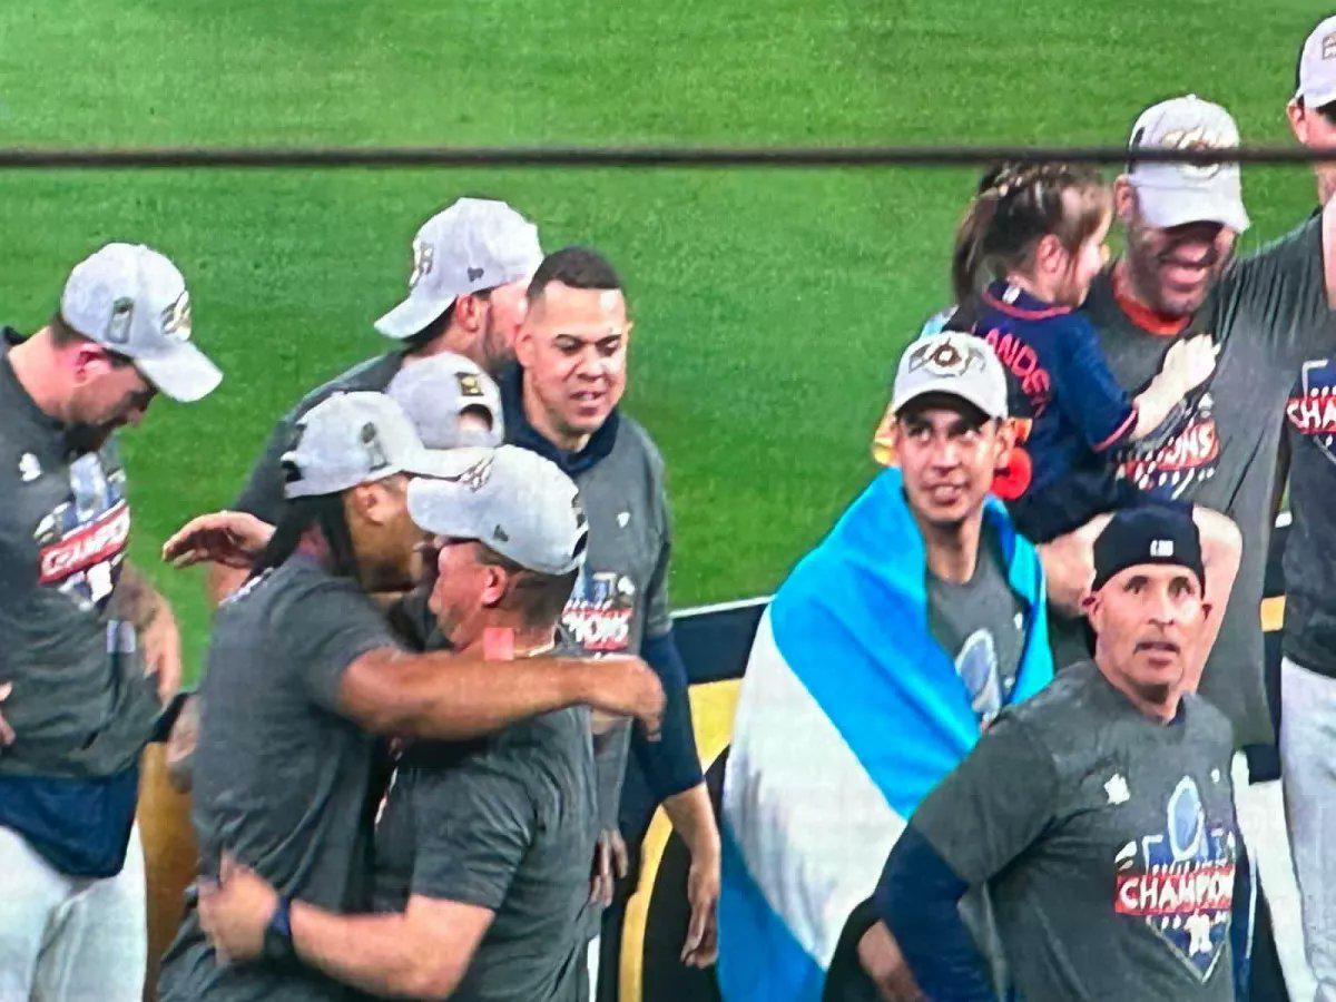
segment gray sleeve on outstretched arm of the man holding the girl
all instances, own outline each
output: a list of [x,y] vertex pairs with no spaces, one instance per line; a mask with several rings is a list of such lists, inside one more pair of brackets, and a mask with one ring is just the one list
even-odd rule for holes
[[1216,309],[1216,331],[1256,338],[1259,353],[1287,370],[1336,349],[1321,216],[1232,265],[1220,281]]

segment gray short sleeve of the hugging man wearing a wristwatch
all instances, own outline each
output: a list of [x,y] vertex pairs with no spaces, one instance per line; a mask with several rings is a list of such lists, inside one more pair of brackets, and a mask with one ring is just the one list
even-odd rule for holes
[[533,798],[486,756],[422,770],[410,892],[497,911],[537,832]]

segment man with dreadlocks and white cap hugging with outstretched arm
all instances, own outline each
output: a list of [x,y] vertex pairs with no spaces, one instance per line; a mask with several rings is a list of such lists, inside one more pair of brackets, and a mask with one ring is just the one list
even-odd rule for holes
[[[477,656],[407,655],[395,643],[369,593],[403,588],[417,562],[409,480],[468,484],[468,457],[425,449],[377,393],[331,397],[298,422],[283,457],[286,512],[214,625],[194,774],[206,886],[227,851],[286,898],[365,908],[373,735],[461,740],[581,703],[657,727],[663,691],[637,659],[536,657],[502,679]],[[263,959],[227,966],[188,896],[163,963],[164,1002],[342,997],[295,963],[283,912]]]

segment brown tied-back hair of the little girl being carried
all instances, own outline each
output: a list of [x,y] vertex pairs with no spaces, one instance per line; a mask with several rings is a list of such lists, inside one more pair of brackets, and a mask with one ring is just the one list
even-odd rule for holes
[[[1079,196],[1069,211],[1066,192]],[[1022,267],[1047,234],[1075,253],[1112,207],[1098,170],[1074,163],[1003,163],[979,182],[955,231],[951,285],[957,302],[973,297],[991,278]]]

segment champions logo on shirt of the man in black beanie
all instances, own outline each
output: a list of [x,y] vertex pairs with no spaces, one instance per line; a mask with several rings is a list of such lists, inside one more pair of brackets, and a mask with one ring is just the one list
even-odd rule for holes
[[1184,776],[1169,796],[1165,828],[1116,855],[1113,910],[1145,922],[1205,982],[1229,942],[1236,858],[1233,831],[1206,818],[1197,784]]

